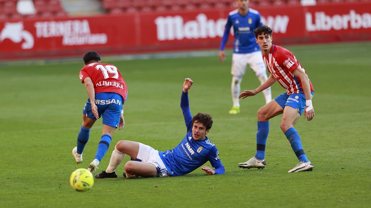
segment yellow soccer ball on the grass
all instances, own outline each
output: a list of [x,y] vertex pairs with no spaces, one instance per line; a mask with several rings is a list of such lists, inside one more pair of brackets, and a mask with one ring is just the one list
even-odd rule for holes
[[76,191],[88,191],[94,184],[93,174],[84,169],[79,168],[72,172],[70,177],[70,185]]

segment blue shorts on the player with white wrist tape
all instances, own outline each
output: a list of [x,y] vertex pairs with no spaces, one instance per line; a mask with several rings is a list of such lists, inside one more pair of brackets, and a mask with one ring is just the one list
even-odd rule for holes
[[[314,92],[311,92],[312,97]],[[305,108],[305,94],[304,93],[293,93],[288,95],[287,93],[282,93],[275,98],[275,101],[285,109],[285,105],[298,109],[300,115],[303,113]]]

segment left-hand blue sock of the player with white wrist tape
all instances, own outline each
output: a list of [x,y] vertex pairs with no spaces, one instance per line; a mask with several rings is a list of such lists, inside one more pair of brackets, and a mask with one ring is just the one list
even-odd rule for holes
[[265,158],[265,144],[267,143],[267,137],[269,133],[269,121],[257,122],[256,132],[256,154],[255,157],[258,160]]

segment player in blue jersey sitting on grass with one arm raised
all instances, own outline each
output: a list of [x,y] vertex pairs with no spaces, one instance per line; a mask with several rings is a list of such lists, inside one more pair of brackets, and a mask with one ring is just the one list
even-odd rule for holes
[[201,169],[209,175],[224,174],[224,166],[221,164],[219,152],[211,143],[206,134],[209,133],[213,120],[209,114],[198,113],[191,115],[188,102],[188,90],[193,81],[186,78],[183,84],[180,107],[183,111],[187,134],[173,150],[165,152],[134,141],[119,141],[112,152],[109,165],[105,171],[95,175],[95,178],[116,178],[115,172],[118,165],[128,154],[132,160],[125,164],[124,177],[164,177],[185,175],[205,162],[210,161],[215,168],[204,166]]

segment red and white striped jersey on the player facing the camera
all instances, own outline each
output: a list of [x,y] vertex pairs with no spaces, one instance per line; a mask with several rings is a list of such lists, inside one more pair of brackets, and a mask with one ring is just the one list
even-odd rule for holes
[[[272,45],[268,57],[263,53],[263,60],[269,73],[286,89],[288,95],[304,93],[301,80],[292,74],[292,71],[301,65],[291,51],[280,46]],[[311,92],[314,91],[311,81],[309,81],[309,85],[311,86]]]

